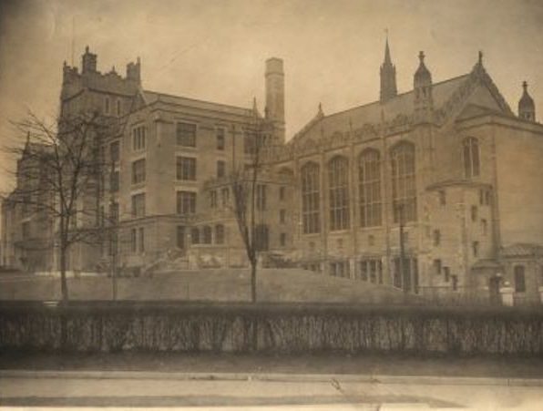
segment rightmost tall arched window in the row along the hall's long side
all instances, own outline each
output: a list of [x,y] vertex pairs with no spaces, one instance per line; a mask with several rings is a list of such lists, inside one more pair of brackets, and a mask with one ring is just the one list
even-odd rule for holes
[[416,220],[415,146],[406,141],[390,151],[394,222]]

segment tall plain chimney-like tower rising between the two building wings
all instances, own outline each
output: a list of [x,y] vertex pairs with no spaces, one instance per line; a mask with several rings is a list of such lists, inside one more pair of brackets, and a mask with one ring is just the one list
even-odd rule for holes
[[266,60],[266,107],[265,116],[274,128],[274,137],[285,140],[284,123],[284,73],[282,59],[272,57]]

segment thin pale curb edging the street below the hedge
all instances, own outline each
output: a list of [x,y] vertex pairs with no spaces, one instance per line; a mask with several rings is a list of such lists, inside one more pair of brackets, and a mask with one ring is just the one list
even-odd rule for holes
[[543,386],[543,378],[498,378],[431,375],[354,375],[354,374],[279,374],[279,373],[179,373],[155,371],[36,371],[0,370],[0,378],[77,378],[77,379],[149,379],[186,381],[263,381],[404,384],[404,385],[506,385]]

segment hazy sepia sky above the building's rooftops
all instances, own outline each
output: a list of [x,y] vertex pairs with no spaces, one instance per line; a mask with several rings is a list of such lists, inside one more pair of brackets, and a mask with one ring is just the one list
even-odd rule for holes
[[[543,1],[539,0],[22,0],[0,2],[0,137],[32,109],[55,116],[62,63],[98,69],[141,57],[143,87],[263,108],[264,60],[285,65],[287,139],[323,102],[325,114],[374,101],[384,29],[398,91],[411,89],[424,50],[434,81],[468,72],[477,51],[514,111],[526,79],[543,113]],[[538,115],[538,118],[541,118]],[[3,163],[0,192],[11,187]]]

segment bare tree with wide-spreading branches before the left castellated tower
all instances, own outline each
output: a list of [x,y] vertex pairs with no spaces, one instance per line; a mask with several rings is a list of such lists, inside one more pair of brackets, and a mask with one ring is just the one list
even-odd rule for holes
[[54,124],[29,113],[15,127],[26,134],[26,144],[6,148],[18,159],[9,200],[47,221],[52,238],[42,246],[53,252],[57,246],[62,301],[67,302],[70,248],[103,240],[99,199],[107,168],[100,147],[112,126],[95,112],[62,116]]

